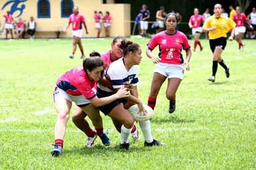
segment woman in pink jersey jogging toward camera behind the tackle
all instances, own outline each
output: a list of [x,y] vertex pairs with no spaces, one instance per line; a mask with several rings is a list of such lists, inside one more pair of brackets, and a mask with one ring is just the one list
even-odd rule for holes
[[[175,94],[183,79],[183,57],[181,50],[186,51],[186,69],[189,70],[189,60],[191,58],[190,45],[187,37],[176,30],[179,18],[176,13],[168,13],[165,17],[166,30],[156,34],[148,42],[146,55],[153,63],[157,63],[154,69],[154,76],[151,84],[151,92],[148,96],[147,105],[155,108],[158,92],[168,78],[166,98],[169,100],[169,113],[173,113],[176,108]],[[159,57],[152,51],[159,45]]]

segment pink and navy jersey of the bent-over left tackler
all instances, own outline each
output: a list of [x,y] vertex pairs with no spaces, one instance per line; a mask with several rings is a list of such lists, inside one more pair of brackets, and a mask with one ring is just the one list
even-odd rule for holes
[[63,74],[56,82],[56,85],[70,95],[83,95],[88,100],[96,96],[95,92],[92,90],[95,81],[91,81],[88,78],[82,65]]

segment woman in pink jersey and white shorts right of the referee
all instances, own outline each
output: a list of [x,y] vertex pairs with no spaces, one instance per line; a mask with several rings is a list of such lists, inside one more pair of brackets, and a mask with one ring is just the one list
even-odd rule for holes
[[233,16],[234,22],[236,22],[236,28],[234,29],[234,36],[236,36],[236,41],[239,45],[239,51],[241,51],[244,47],[244,44],[242,43],[242,38],[245,33],[245,22],[250,26],[250,29],[253,29],[253,27],[250,24],[249,19],[246,17],[244,13],[242,13],[241,8],[236,8],[236,14]]

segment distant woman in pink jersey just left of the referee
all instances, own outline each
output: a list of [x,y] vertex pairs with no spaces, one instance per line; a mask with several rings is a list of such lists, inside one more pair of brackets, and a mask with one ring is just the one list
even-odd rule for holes
[[200,26],[201,23],[204,23],[204,17],[199,15],[198,8],[194,8],[194,15],[190,16],[188,26],[192,29],[192,35],[194,35],[194,49],[196,51],[197,44],[200,46],[200,51],[203,50],[203,46],[199,40],[199,37],[202,33],[202,27]]

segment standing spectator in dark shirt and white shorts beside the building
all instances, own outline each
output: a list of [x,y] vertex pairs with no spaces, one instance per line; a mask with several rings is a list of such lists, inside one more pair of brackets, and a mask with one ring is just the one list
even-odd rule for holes
[[140,20],[140,29],[141,29],[140,35],[147,36],[146,30],[148,28],[148,19],[150,19],[150,11],[147,9],[146,4],[142,5],[142,9],[140,13],[142,14],[142,17]]

